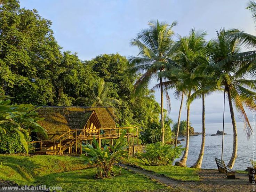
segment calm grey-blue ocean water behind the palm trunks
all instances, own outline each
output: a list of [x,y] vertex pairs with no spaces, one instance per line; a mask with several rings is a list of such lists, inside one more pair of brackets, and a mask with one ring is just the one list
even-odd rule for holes
[[[202,132],[202,126],[200,124],[192,125],[195,132]],[[253,127],[253,122],[251,122]],[[222,131],[222,123],[206,123],[206,134],[216,134],[217,130]],[[245,170],[247,166],[251,166],[250,159],[256,160],[256,149],[253,149],[253,143],[256,144],[256,134],[255,131],[253,136],[248,140],[245,132],[243,131],[243,123],[237,123],[238,132],[238,151],[237,159],[233,169],[235,170]],[[224,125],[224,147],[223,147],[223,160],[226,165],[229,162],[232,150],[233,150],[233,128],[232,123],[225,123]],[[186,139],[185,137],[179,137],[178,139]],[[195,161],[197,161],[200,147],[201,147],[202,136],[190,136],[189,142],[189,155],[187,159],[187,167],[192,166]],[[186,140],[181,141],[181,145],[185,146]],[[205,154],[203,155],[202,168],[205,169],[216,169],[216,163],[214,158],[217,157],[221,159],[221,148],[222,148],[222,135],[219,136],[206,136],[205,137]],[[255,156],[254,156],[255,155]]]

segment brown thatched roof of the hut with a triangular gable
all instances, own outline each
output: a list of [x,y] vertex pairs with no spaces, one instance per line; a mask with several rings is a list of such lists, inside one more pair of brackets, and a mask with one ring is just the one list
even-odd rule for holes
[[42,106],[38,113],[45,120],[40,125],[45,128],[52,138],[52,134],[59,134],[69,129],[82,129],[95,111],[102,128],[115,128],[114,112],[111,107],[69,107]]

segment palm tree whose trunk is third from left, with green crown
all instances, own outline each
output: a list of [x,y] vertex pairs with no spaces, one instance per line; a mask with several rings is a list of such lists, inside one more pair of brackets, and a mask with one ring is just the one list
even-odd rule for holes
[[[193,28],[189,37],[180,38],[181,46],[175,56],[174,61],[178,64],[173,67],[168,75],[170,78],[175,76],[179,80],[179,90],[187,93],[187,99],[190,98],[192,91],[198,84],[198,80],[192,78],[193,70],[200,64],[202,50],[205,45],[206,32],[196,32]],[[187,155],[189,152],[189,129],[190,129],[190,103],[187,103],[186,117],[186,149],[180,161],[176,162],[177,166],[186,166]]]

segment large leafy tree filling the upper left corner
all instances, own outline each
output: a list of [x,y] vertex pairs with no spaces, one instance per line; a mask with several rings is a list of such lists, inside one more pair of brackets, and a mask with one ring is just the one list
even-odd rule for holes
[[18,103],[54,102],[54,69],[62,55],[50,26],[16,0],[0,6],[0,91]]

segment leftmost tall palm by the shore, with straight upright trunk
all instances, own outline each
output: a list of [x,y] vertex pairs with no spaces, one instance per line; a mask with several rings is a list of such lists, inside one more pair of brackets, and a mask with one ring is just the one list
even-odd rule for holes
[[[157,77],[158,73],[169,68],[170,57],[174,54],[177,46],[173,41],[174,32],[172,28],[177,25],[159,23],[159,21],[149,22],[149,28],[142,30],[135,39],[131,40],[131,46],[139,48],[137,57],[132,56],[130,61],[130,73],[140,74],[141,77],[134,85],[135,93],[147,87],[150,80]],[[164,143],[164,120],[163,120],[163,78],[160,79],[161,92],[161,129],[162,142]]]

